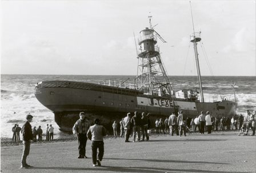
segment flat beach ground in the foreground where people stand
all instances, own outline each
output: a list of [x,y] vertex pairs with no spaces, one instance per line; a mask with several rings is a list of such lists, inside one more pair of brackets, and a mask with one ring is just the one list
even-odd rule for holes
[[1,141],[1,172],[256,172],[256,137],[236,131],[151,135],[150,141],[135,143],[108,136],[101,167],[92,165],[90,140],[87,159],[77,159],[74,138],[32,143],[29,169],[19,168],[22,147]]

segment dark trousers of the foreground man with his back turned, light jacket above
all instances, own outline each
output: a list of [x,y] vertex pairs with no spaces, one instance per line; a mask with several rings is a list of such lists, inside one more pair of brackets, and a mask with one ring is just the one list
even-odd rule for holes
[[98,159],[101,161],[104,155],[104,142],[102,141],[92,141],[91,142],[91,158],[93,159],[93,164],[97,163],[97,149],[99,148]]

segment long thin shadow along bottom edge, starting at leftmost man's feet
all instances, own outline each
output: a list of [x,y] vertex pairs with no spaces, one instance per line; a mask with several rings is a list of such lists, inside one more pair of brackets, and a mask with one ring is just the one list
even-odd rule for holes
[[91,168],[73,168],[73,167],[33,167],[34,170],[80,170],[80,171],[102,171],[102,172],[209,172],[209,173],[246,173],[234,171],[210,171],[210,170],[197,170],[197,169],[171,169],[171,168],[156,168],[156,167],[119,167],[119,166],[101,166]]

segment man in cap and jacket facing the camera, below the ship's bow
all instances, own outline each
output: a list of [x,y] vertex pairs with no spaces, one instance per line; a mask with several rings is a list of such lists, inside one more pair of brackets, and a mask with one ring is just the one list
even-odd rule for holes
[[78,140],[78,159],[87,158],[85,155],[85,147],[87,142],[87,131],[90,127],[89,121],[85,118],[85,112],[80,112],[80,119],[75,122],[73,127],[73,134],[77,136]]

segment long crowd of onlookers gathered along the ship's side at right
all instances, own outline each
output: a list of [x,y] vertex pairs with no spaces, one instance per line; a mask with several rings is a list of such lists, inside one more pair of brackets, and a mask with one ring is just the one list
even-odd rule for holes
[[[254,114],[251,114],[250,111],[247,110],[245,117],[240,114],[238,118],[236,116],[232,116],[230,119],[229,116],[224,116],[223,114],[222,117],[219,118],[219,116],[211,116],[209,111],[201,111],[200,115],[191,119],[187,115],[183,114],[182,111],[178,112],[178,116],[173,112],[169,118],[166,117],[165,120],[162,118],[155,120],[155,132],[156,134],[166,134],[168,131],[170,135],[173,135],[175,132],[179,136],[182,134],[186,136],[186,133],[191,130],[194,133],[199,131],[200,134],[205,134],[205,131],[207,131],[208,134],[211,134],[211,131],[218,130],[241,130],[242,125],[244,124],[247,131],[251,128],[254,135],[254,115],[255,112]],[[147,123],[145,122],[145,119],[147,119]],[[129,112],[127,116],[119,122],[119,124],[117,121],[114,121],[112,125],[115,137],[117,137],[118,126],[120,126],[120,137],[125,136],[125,142],[129,142],[128,136],[130,135],[130,130],[133,130],[133,141],[135,141],[134,135],[138,135],[138,140],[140,140],[141,132],[145,136],[147,135],[145,129],[149,129],[150,126],[149,114],[145,116],[145,112],[143,112],[141,117],[138,115],[137,111],[134,112],[134,116],[131,116],[131,113]],[[146,126],[143,127],[143,124],[146,124]],[[142,140],[144,140],[144,137]]]

